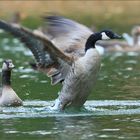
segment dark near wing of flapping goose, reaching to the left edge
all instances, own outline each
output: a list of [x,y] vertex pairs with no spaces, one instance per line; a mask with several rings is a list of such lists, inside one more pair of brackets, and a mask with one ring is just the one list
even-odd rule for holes
[[18,37],[32,51],[36,61],[45,67],[48,76],[52,79],[52,84],[64,80],[73,58],[56,48],[45,35],[2,20],[0,20],[0,28]]

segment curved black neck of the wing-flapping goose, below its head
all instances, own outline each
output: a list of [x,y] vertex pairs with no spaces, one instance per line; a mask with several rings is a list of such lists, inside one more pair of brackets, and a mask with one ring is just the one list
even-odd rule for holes
[[90,49],[90,48],[95,48],[95,43],[96,41],[98,40],[101,40],[101,35],[100,33],[95,33],[95,34],[92,34],[88,39],[87,39],[87,42],[86,42],[86,45],[85,45],[85,52]]

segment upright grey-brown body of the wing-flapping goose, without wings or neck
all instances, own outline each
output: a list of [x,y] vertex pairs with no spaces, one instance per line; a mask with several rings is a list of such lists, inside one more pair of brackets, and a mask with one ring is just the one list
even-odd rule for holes
[[95,85],[99,70],[100,55],[95,48],[89,49],[83,57],[72,64],[63,82],[57,105],[52,109],[64,108],[67,104],[81,107]]

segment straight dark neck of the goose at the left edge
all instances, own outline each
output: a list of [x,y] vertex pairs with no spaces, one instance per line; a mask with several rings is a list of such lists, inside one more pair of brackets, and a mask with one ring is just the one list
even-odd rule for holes
[[2,85],[11,85],[11,70],[2,70]]

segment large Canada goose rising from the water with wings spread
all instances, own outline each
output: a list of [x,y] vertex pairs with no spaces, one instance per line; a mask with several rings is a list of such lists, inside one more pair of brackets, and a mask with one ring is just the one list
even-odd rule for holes
[[0,28],[19,37],[32,51],[37,68],[44,69],[52,84],[62,90],[51,109],[81,107],[94,86],[100,69],[98,40],[120,39],[110,30],[93,33],[89,28],[60,16],[45,17],[47,28],[30,31],[0,20]]

